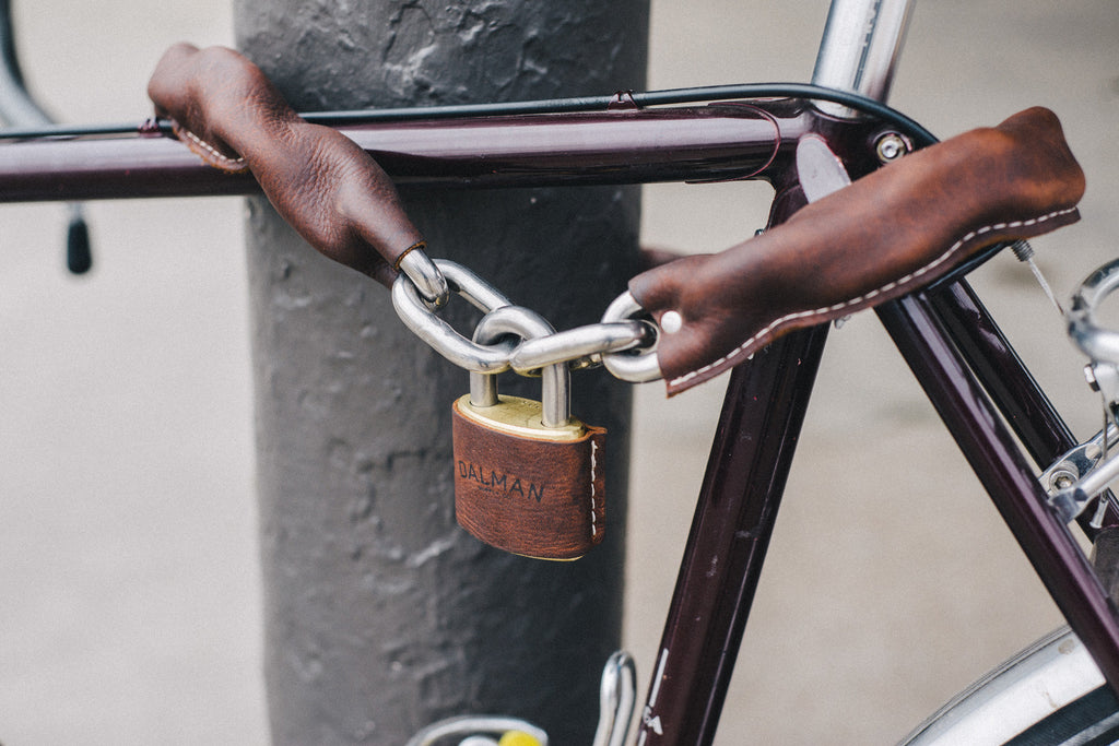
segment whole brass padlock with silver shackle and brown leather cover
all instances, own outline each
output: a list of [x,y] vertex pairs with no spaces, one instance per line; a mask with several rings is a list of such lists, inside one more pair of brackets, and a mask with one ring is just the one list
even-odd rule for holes
[[[552,333],[538,314],[504,306],[487,314],[474,341],[504,333]],[[454,512],[459,525],[499,549],[539,559],[577,559],[605,529],[606,431],[571,417],[565,363],[543,370],[534,402],[497,393],[497,377],[472,372],[470,394],[452,407]]]

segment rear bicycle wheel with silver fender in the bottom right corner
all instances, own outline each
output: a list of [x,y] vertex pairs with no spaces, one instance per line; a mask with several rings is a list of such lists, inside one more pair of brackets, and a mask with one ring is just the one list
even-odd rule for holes
[[1068,626],[1012,657],[930,716],[900,746],[1119,743],[1119,699]]

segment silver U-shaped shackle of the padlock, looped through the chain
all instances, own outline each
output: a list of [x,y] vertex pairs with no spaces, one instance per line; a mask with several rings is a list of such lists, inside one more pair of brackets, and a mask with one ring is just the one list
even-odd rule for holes
[[[473,341],[492,344],[502,334],[518,334],[524,339],[546,337],[555,329],[540,314],[523,305],[504,305],[482,317],[474,328]],[[542,422],[545,427],[563,427],[571,421],[571,374],[567,365],[557,362],[542,370],[543,386],[540,404]],[[479,372],[470,374],[470,404],[474,407],[492,407],[498,403],[497,376]]]

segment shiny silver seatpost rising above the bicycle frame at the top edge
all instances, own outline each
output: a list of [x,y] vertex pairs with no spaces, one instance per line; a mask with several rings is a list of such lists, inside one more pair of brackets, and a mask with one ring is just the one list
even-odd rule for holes
[[[831,0],[812,83],[885,103],[914,0]],[[829,105],[830,113],[855,112]]]

